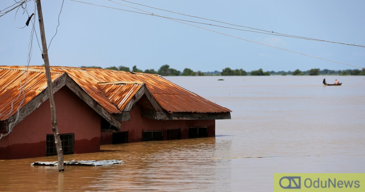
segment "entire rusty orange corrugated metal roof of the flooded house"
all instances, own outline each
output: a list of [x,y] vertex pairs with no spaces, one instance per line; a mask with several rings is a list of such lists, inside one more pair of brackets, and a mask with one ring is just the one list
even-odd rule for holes
[[[28,92],[23,105],[47,86],[44,66],[31,66],[30,68],[33,69],[28,72],[28,83],[25,89]],[[51,70],[53,80],[66,72],[86,93],[110,113],[121,113],[133,95],[140,89],[141,83],[145,83],[157,103],[167,112],[231,112],[231,110],[208,101],[160,75],[99,68],[51,67]],[[19,83],[24,67],[0,67],[0,71],[0,110],[1,113],[4,113],[10,109],[7,104],[9,101],[16,100],[18,102],[19,100],[16,99],[15,92],[11,93],[8,90],[20,90]],[[25,82],[25,80],[23,81]],[[14,106],[17,105],[19,102],[14,103]],[[12,110],[10,114],[14,113]]]

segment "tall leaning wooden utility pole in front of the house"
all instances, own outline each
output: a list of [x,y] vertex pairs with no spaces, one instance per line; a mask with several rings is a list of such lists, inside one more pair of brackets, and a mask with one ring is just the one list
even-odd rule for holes
[[54,136],[54,140],[55,140],[54,143],[56,144],[56,148],[57,148],[58,170],[61,172],[61,171],[64,171],[64,151],[62,150],[62,143],[61,143],[61,139],[60,139],[59,133],[58,133],[56,106],[55,106],[54,98],[53,98],[51,71],[49,69],[48,51],[47,51],[45,27],[43,25],[41,0],[36,0],[36,1],[37,1],[39,29],[41,31],[41,39],[42,39],[42,49],[43,49],[42,57],[45,62],[48,96],[49,96],[49,103],[51,106],[52,131],[53,131],[53,136]]

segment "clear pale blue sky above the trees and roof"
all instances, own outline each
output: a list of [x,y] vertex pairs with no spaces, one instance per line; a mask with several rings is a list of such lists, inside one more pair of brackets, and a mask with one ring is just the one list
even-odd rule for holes
[[[155,10],[141,5],[113,0],[80,0],[131,11],[148,11],[154,15],[228,26],[208,20]],[[365,1],[362,0],[130,0],[134,3],[179,12],[235,25],[277,33],[365,45]],[[14,4],[1,0],[0,10]],[[47,44],[55,34],[62,0],[42,0]],[[34,2],[27,3],[34,12]],[[23,27],[28,16],[20,9],[0,17],[0,65],[26,65],[31,26]],[[145,12],[146,13],[146,12]],[[38,16],[35,31],[39,38]],[[355,69],[303,56],[249,41],[260,42],[324,59],[365,67],[365,48],[309,41],[249,31],[224,29],[210,25],[191,25],[158,16],[137,14],[95,5],[64,0],[57,35],[49,47],[51,65],[103,68],[124,65],[155,69],[168,64],[183,71],[222,71],[225,67],[246,71],[294,71],[295,69]],[[229,26],[237,27],[237,26]],[[239,28],[239,27],[237,27]],[[239,28],[249,30],[247,28]],[[41,50],[34,36],[30,65],[41,65]]]

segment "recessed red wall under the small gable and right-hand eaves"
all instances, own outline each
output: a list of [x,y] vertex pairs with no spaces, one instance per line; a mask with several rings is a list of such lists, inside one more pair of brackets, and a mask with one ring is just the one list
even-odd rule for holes
[[[181,129],[181,139],[189,138],[189,127],[208,127],[208,137],[215,136],[215,120],[164,120],[157,121],[141,116],[141,109],[136,104],[130,112],[131,120],[123,121],[120,131],[128,131],[128,142],[142,141],[142,131],[162,130],[164,140],[167,139],[167,129]],[[111,139],[105,135],[104,139]],[[111,140],[104,140],[101,143],[110,144]]]

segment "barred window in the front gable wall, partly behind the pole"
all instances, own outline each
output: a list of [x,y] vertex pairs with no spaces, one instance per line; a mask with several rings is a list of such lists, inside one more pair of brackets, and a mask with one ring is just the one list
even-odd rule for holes
[[[59,134],[62,141],[62,150],[64,154],[73,154],[74,133]],[[57,155],[56,144],[54,143],[53,134],[46,136],[46,156]]]

